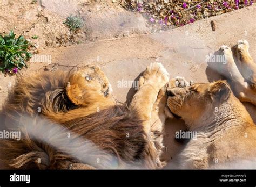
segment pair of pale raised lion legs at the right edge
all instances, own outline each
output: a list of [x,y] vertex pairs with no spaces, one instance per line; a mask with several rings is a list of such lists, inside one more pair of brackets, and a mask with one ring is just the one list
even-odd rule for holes
[[[237,48],[235,46],[233,49],[233,53],[229,47],[221,46],[219,53],[225,55],[227,58],[226,64],[221,68],[223,69],[225,78],[231,85],[234,95],[241,102],[250,102],[256,105],[256,89],[254,88],[256,67],[248,52],[247,44],[248,42],[246,40],[239,40]],[[235,64],[233,56],[238,57],[235,58],[237,64]]]

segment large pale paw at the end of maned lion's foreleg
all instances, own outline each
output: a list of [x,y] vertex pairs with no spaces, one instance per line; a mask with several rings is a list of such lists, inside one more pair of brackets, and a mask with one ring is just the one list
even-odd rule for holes
[[169,80],[169,73],[161,63],[151,63],[139,79],[139,87],[150,84],[157,89],[164,87]]

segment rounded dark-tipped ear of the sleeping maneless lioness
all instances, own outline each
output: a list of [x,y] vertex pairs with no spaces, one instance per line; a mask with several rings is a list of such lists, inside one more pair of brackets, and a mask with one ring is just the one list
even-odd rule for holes
[[230,97],[231,89],[226,81],[217,81],[211,85],[210,94],[218,100],[224,101]]

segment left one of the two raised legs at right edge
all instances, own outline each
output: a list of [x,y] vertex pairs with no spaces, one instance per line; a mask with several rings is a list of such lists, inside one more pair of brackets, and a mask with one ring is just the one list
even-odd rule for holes
[[248,83],[245,81],[244,77],[242,77],[234,62],[231,49],[223,45],[220,47],[219,52],[225,56],[223,73],[227,80],[231,82],[235,96],[237,96],[241,102],[250,102],[256,105],[256,92],[248,86]]

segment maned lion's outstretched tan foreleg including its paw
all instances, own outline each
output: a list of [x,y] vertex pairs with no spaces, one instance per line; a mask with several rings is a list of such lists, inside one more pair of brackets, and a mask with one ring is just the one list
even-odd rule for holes
[[[159,159],[161,143],[155,142],[154,139],[161,139],[159,134],[162,131],[162,124],[158,117],[157,107],[164,103],[164,91],[159,91],[168,80],[169,74],[163,65],[161,63],[151,63],[144,71],[143,76],[140,77],[139,90],[133,96],[130,106],[131,111],[136,113],[137,118],[143,120],[145,138],[147,139],[144,162],[151,168],[163,167]],[[155,131],[152,131],[152,129]]]

